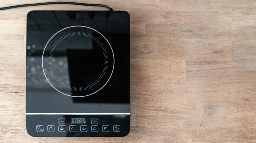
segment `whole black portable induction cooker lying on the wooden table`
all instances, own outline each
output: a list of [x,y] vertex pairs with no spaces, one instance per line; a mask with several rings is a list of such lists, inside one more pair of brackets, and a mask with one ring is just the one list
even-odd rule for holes
[[26,60],[29,135],[128,135],[129,13],[30,11]]

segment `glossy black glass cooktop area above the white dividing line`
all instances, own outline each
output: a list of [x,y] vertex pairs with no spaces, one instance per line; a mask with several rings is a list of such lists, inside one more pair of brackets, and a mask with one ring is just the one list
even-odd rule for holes
[[27,20],[26,112],[130,112],[126,13],[32,11]]

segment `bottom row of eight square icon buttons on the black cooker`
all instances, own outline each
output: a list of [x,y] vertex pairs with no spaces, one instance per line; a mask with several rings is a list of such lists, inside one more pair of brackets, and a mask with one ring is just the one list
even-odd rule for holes
[[[55,130],[54,125],[48,125],[47,126],[47,131],[48,132],[54,132],[54,130]],[[36,126],[36,131],[37,132],[43,132],[44,131],[44,126],[43,125],[37,125]],[[58,131],[59,132],[65,132],[66,131],[65,125],[59,125],[58,126]],[[69,131],[70,132],[76,132],[76,125],[70,125],[69,126]],[[80,126],[80,131],[81,132],[87,132],[88,131],[87,125],[81,125]],[[91,126],[91,131],[92,132],[98,132],[99,131],[98,125],[92,125]],[[113,126],[113,131],[114,132],[120,132],[120,125],[114,125]],[[102,132],[109,132],[109,125],[103,125],[102,126]]]

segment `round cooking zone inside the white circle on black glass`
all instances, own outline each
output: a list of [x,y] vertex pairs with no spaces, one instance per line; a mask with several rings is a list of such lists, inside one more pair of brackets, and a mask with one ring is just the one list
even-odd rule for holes
[[85,97],[102,89],[112,76],[115,58],[108,40],[86,26],[71,26],[47,42],[42,67],[46,80],[58,92]]

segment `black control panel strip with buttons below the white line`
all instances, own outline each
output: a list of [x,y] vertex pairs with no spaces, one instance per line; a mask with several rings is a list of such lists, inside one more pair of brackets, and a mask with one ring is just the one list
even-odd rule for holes
[[126,136],[130,115],[26,115],[31,136]]

